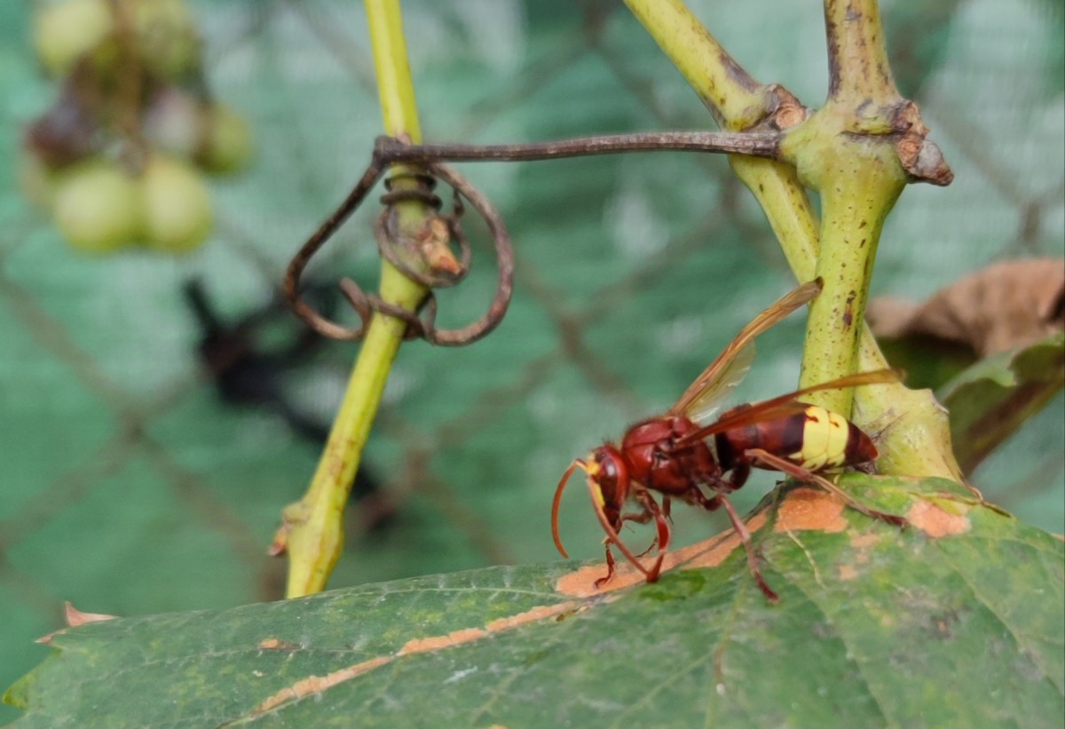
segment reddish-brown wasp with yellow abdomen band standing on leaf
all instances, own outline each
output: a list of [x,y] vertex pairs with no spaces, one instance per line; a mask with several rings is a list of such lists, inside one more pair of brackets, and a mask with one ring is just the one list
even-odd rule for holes
[[[815,483],[842,498],[863,514],[898,526],[902,517],[870,509],[822,473],[845,466],[858,466],[876,458],[872,439],[842,416],[802,402],[810,392],[897,382],[895,370],[878,370],[840,377],[759,403],[725,410],[721,402],[740,383],[754,360],[754,339],[820,293],[820,279],[786,294],[736,336],[724,351],[695,378],[681,399],[663,415],[636,423],[620,443],[607,442],[587,458],[576,458],[566,470],[552,504],[551,523],[555,547],[568,557],[558,533],[558,511],[570,476],[577,468],[588,475],[588,488],[599,521],[606,532],[607,573],[596,580],[602,586],[615,574],[611,547],[617,547],[648,582],[658,579],[669,547],[670,505],[681,501],[711,512],[723,507],[743,542],[748,565],[758,587],[771,601],[777,600],[754,553],[751,534],[728,500],[740,488],[752,468],[786,473]],[[655,493],[661,495],[661,503]],[[636,511],[624,512],[626,504]],[[654,521],[657,530],[651,547],[636,555],[619,536],[626,521]],[[643,556],[657,546],[657,557],[645,567]]]

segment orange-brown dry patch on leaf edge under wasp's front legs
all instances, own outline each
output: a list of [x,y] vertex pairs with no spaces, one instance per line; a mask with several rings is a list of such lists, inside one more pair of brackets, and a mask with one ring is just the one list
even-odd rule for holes
[[[766,515],[759,512],[747,522],[749,532],[754,533],[765,526]],[[705,541],[678,549],[666,555],[662,571],[670,569],[699,569],[717,567],[725,561],[732,551],[742,546],[739,535],[733,530],[726,530]],[[653,560],[648,561],[653,562]],[[643,573],[629,564],[619,564],[613,579],[602,587],[595,586],[595,581],[603,577],[606,569],[603,564],[588,565],[562,576],[555,583],[555,589],[571,597],[587,598],[612,593],[625,587],[638,585],[644,581]]]

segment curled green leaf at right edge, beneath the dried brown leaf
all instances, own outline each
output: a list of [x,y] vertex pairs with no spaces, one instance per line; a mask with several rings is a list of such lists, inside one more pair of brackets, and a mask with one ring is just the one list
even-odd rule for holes
[[1065,334],[982,359],[947,384],[957,463],[971,473],[1003,440],[1065,387]]

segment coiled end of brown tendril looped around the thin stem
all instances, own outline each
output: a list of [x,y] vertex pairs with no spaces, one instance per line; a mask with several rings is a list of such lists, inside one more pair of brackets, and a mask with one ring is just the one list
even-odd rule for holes
[[[308,326],[318,334],[332,339],[361,339],[366,331],[374,311],[395,317],[406,322],[407,333],[405,338],[407,339],[422,338],[432,344],[444,346],[460,346],[480,339],[498,326],[507,311],[507,306],[510,304],[510,294],[513,289],[513,249],[510,244],[510,234],[507,232],[507,227],[491,201],[473,187],[469,180],[444,164],[426,164],[424,165],[425,174],[400,173],[387,180],[386,188],[388,192],[381,196],[381,204],[386,206],[386,209],[374,222],[374,237],[377,240],[381,257],[388,260],[405,276],[429,289],[425,304],[422,307],[421,317],[419,317],[417,312],[389,304],[376,294],[366,293],[349,278],[341,279],[340,288],[344,297],[355,309],[356,313],[359,314],[361,324],[358,327],[343,326],[327,319],[299,295],[299,278],[302,275],[304,269],[307,268],[308,262],[317,253],[318,248],[337,232],[344,221],[362,204],[366,194],[377,183],[377,180],[380,179],[384,167],[386,162],[375,152],[370,166],[348,196],[322,226],[311,234],[307,242],[300,246],[296,255],[293,256],[284,277],[283,290],[285,297],[291,303],[296,314]],[[393,190],[393,180],[397,177],[412,178],[417,184],[411,190]],[[448,215],[439,212],[441,200],[432,192],[437,179],[443,180],[455,193],[453,210]],[[464,211],[463,198],[484,218],[492,236],[498,268],[498,282],[492,304],[480,319],[460,329],[439,329],[435,324],[437,299],[432,293],[432,289],[454,286],[465,276],[470,269],[470,244],[462,232],[460,222]],[[424,254],[419,249],[417,242],[405,240],[398,232],[394,206],[397,203],[412,199],[420,200],[436,211],[435,217],[430,217],[427,222],[428,228],[446,234],[447,240],[458,246],[459,259],[452,264],[450,269],[440,271],[439,273],[427,273],[426,271],[433,271],[433,266],[431,263],[430,265],[425,265]]]

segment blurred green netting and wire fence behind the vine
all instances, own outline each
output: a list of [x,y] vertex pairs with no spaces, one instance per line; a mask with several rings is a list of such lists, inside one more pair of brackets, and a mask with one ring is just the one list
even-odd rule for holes
[[[183,282],[232,321],[264,307],[289,257],[344,196],[380,131],[365,17],[342,0],[191,2],[217,96],[250,119],[258,158],[213,184],[217,225],[183,258],[72,250],[22,197],[26,124],[56,94],[28,42],[32,3],[0,3],[0,684],[48,653],[62,602],[121,615],[277,599],[265,555],[317,446],[276,410],[222,402],[199,374]],[[763,81],[818,106],[818,3],[690,2]],[[884,2],[899,85],[921,106],[956,179],[913,187],[881,243],[874,294],[923,298],[988,263],[1065,253],[1062,11],[1052,2]],[[427,141],[547,140],[711,126],[619,3],[408,0]],[[504,324],[464,349],[405,345],[366,463],[391,519],[348,520],[342,586],[557,558],[552,490],[570,460],[665,409],[793,281],[760,210],[723,159],[655,153],[465,165],[518,249]],[[376,280],[360,211],[314,276]],[[476,226],[468,224],[476,236]],[[495,272],[443,292],[441,322],[478,317]],[[284,338],[288,321],[264,333]],[[738,398],[794,386],[801,318],[776,327]],[[273,341],[273,340],[272,340]],[[356,345],[327,343],[286,372],[295,410],[328,422]],[[974,475],[988,499],[1065,531],[1062,399]],[[761,474],[737,496],[752,506]],[[601,554],[583,489],[563,504],[574,556]],[[718,514],[681,509],[694,541]],[[355,619],[355,618],[353,618]],[[0,719],[13,710],[0,709]]]

